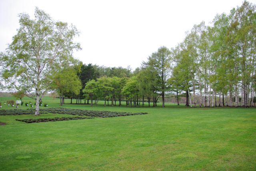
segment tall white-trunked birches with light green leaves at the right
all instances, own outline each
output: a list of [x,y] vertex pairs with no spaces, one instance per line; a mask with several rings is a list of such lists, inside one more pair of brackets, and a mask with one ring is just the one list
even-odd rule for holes
[[216,15],[212,26],[195,25],[171,51],[175,66],[170,83],[189,96],[191,91],[194,106],[197,96],[200,107],[252,104],[256,88],[254,4],[244,1],[228,15]]

